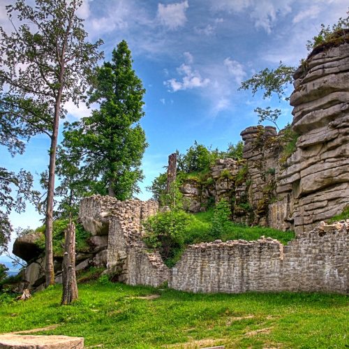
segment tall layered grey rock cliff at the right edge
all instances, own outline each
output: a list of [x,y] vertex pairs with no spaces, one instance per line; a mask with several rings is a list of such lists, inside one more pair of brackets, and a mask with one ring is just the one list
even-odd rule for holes
[[349,44],[315,54],[295,74],[292,128],[297,151],[277,177],[290,194],[295,231],[349,205]]

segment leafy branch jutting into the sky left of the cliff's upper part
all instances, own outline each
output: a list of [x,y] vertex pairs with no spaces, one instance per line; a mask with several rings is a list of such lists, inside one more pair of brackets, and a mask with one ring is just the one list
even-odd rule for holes
[[[258,90],[263,90],[263,98],[269,98],[272,94],[276,94],[281,100],[285,96],[285,89],[293,82],[292,75],[294,73],[295,67],[285,66],[280,61],[277,68],[265,68],[250,79],[243,81],[239,90],[252,89],[253,96]],[[286,97],[285,99],[289,100],[290,98]]]

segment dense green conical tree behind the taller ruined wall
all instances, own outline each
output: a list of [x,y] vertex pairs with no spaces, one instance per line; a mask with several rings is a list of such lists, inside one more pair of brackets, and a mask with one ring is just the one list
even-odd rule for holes
[[145,90],[132,68],[131,51],[125,40],[112,52],[112,61],[96,72],[96,89],[90,102],[99,110],[80,122],[66,124],[63,146],[66,155],[80,156],[80,171],[91,191],[119,200],[139,193],[143,178],[140,165],[147,147],[138,121],[144,115]]

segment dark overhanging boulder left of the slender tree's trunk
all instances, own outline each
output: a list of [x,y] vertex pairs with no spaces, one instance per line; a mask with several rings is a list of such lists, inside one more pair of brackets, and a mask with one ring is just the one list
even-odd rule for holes
[[13,254],[22,258],[22,260],[25,260],[26,262],[34,260],[34,258],[38,258],[43,250],[38,247],[36,242],[42,238],[43,232],[34,232],[33,234],[17,237],[17,239],[15,239],[15,243],[13,244]]

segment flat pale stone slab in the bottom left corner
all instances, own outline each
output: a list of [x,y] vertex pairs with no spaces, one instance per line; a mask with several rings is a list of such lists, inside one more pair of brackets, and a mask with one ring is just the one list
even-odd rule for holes
[[82,337],[33,336],[20,334],[0,335],[0,348],[3,349],[83,349]]

